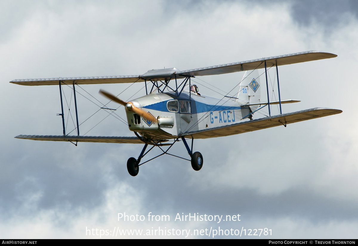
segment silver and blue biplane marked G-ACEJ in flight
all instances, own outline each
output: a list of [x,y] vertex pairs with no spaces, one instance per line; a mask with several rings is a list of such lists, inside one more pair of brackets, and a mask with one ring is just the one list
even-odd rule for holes
[[[19,135],[15,138],[40,141],[69,141],[72,143],[76,142],[76,146],[78,142],[144,144],[139,157],[137,159],[131,157],[127,161],[127,169],[132,176],[138,174],[140,165],[161,155],[176,156],[168,151],[174,143],[182,141],[190,159],[176,157],[190,161],[193,169],[198,171],[203,166],[203,156],[198,151],[193,152],[194,139],[230,136],[276,126],[286,127],[290,123],[342,113],[342,110],[339,109],[312,108],[283,114],[281,109],[281,104],[295,103],[297,100],[281,100],[277,67],[333,57],[337,57],[337,55],[326,52],[307,51],[184,71],[180,71],[177,68],[164,68],[149,70],[143,75],[132,76],[13,80],[10,83],[18,85],[58,85],[62,108],[62,113],[59,115],[62,116],[63,125],[62,136]],[[267,69],[271,67],[276,68],[278,101],[269,100]],[[262,85],[258,73],[258,69],[261,68],[265,69],[267,100],[261,100]],[[196,76],[227,74],[240,71],[246,72],[241,82],[236,85],[238,86],[236,90],[237,96],[228,96],[227,94],[220,99],[201,95],[198,87],[192,83],[192,79]],[[100,91],[108,99],[124,106],[129,130],[134,132],[135,136],[80,136],[75,90],[77,85],[139,82],[145,83],[146,95],[128,102],[122,101],[106,91]],[[66,134],[62,85],[71,85],[73,88],[77,136],[68,136]],[[271,115],[270,107],[272,104],[280,105],[280,114]],[[269,115],[264,118],[253,119],[253,114],[264,107],[268,108]],[[187,142],[188,139],[191,139],[190,147]],[[149,145],[151,148],[147,150]],[[141,163],[141,159],[154,147],[159,147],[162,151],[161,154]]]

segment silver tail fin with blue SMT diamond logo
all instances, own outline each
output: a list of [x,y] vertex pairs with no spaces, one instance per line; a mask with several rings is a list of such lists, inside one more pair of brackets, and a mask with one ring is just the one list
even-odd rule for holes
[[[236,101],[243,105],[241,107],[241,115],[243,119],[252,118],[251,113],[254,112],[260,105],[251,105],[245,107],[245,104],[260,103],[261,87],[258,70],[246,71],[241,82],[240,90],[237,94]],[[246,117],[247,115],[247,117]]]

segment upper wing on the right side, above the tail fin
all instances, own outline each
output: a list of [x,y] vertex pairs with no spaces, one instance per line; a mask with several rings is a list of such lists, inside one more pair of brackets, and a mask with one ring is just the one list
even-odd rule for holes
[[320,51],[306,51],[299,53],[292,53],[283,56],[265,57],[251,61],[242,61],[235,63],[228,63],[218,66],[202,67],[191,70],[181,71],[181,75],[186,76],[204,76],[204,75],[215,75],[215,74],[228,74],[231,72],[248,71],[259,68],[265,68],[266,66],[271,67],[277,64],[277,66],[288,65],[300,62],[315,61],[327,58],[337,57],[337,55],[320,52]]

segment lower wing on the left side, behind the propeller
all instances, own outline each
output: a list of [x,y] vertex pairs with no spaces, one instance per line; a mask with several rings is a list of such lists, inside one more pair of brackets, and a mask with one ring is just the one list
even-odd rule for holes
[[30,139],[38,141],[71,141],[71,142],[91,142],[91,143],[143,143],[137,137],[102,137],[102,136],[39,136],[39,135],[19,135],[15,138]]

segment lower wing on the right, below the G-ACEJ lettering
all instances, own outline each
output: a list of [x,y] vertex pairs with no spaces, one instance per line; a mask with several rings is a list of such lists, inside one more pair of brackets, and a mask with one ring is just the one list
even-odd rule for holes
[[314,108],[306,109],[298,112],[280,114],[271,117],[266,117],[262,119],[250,120],[246,122],[231,124],[229,126],[216,127],[209,129],[207,131],[197,131],[191,132],[188,136],[194,138],[213,138],[213,137],[223,137],[231,136],[235,134],[240,134],[244,132],[252,132],[265,128],[282,126],[286,124],[291,124],[295,122],[300,122],[304,120],[310,120],[320,117],[325,117],[333,114],[340,114],[342,110],[339,109],[324,109],[324,108]]

